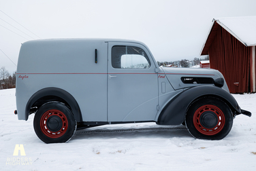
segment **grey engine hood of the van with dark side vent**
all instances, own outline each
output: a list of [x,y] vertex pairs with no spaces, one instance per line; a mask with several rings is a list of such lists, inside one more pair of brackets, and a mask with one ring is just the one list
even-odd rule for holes
[[[200,85],[214,85],[213,81],[223,75],[214,69],[194,69],[194,68],[171,68],[160,67],[163,73],[159,73],[160,77],[167,77],[175,90],[180,88],[190,88]],[[225,79],[224,79],[225,80]],[[227,83],[224,83],[223,89],[227,90]]]

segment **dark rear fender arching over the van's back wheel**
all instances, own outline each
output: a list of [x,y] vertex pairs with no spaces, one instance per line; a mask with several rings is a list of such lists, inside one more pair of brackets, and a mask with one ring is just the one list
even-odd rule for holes
[[51,101],[63,102],[72,111],[76,121],[82,121],[82,113],[80,111],[78,102],[74,96],[69,94],[69,92],[62,90],[61,88],[44,88],[38,92],[35,92],[35,94],[33,94],[33,96],[31,96],[27,102],[25,108],[25,117],[28,118],[29,114],[33,113],[34,107],[37,107],[38,109],[46,102]]

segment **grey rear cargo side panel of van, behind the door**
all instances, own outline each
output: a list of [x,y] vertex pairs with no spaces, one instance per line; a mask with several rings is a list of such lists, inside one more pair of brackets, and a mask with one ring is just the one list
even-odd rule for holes
[[84,121],[107,121],[107,61],[108,43],[104,41],[67,39],[23,43],[16,76],[18,119],[26,119],[26,102],[35,92],[54,87],[76,99]]

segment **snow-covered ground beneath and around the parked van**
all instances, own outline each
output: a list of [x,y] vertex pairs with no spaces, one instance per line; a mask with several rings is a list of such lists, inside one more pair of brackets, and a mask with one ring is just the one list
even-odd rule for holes
[[[166,128],[134,123],[89,128],[98,132],[45,144],[35,135],[33,115],[28,121],[14,115],[15,89],[0,90],[0,170],[256,170],[256,94],[233,96],[253,116],[238,115],[223,140],[196,140],[183,126],[99,132]],[[16,145],[23,145],[25,155],[14,155]]]

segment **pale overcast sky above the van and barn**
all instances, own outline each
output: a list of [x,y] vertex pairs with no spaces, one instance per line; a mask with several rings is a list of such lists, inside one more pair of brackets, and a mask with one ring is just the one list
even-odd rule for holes
[[[174,61],[200,58],[212,19],[256,16],[256,1],[0,0],[0,10],[0,49],[15,64],[21,43],[52,38],[135,39],[156,60]],[[0,67],[16,71],[3,52]]]

